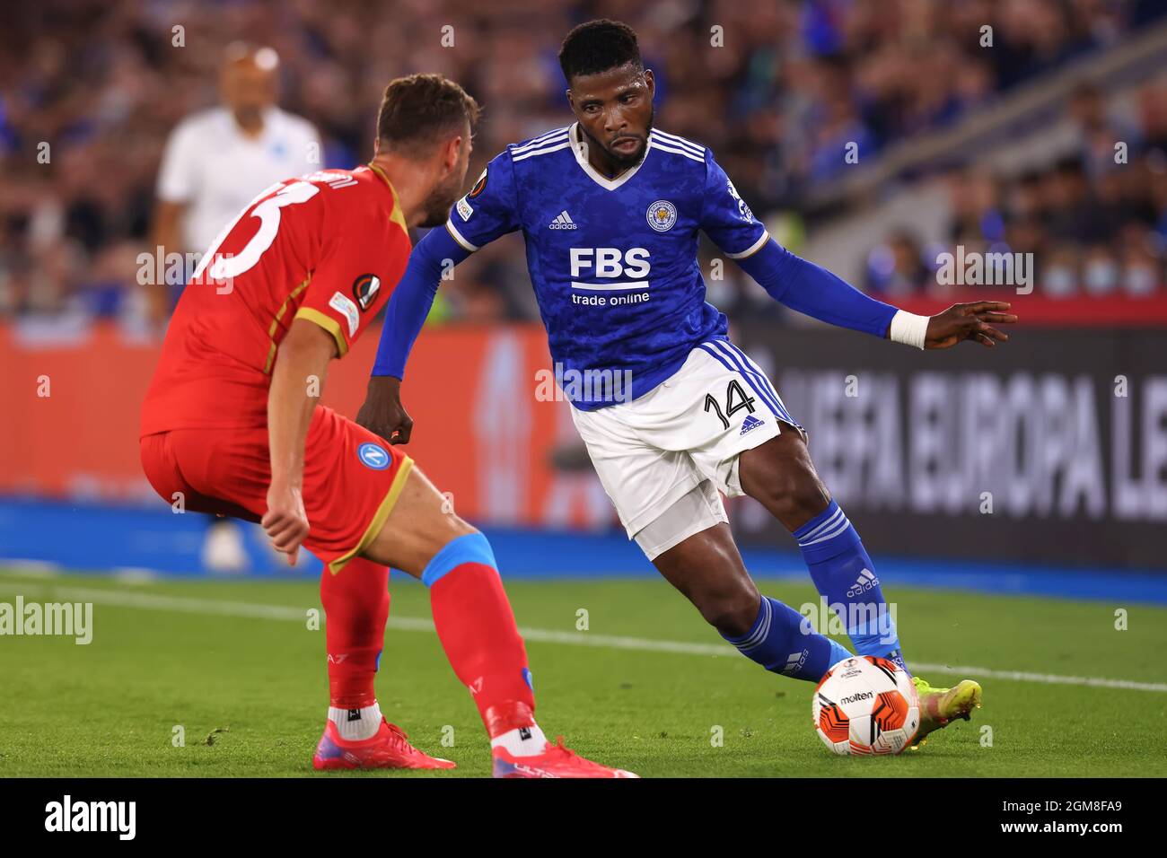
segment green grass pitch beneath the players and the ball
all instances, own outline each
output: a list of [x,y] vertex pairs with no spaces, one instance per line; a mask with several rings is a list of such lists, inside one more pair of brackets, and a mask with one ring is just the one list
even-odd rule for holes
[[[760,586],[794,606],[817,600],[809,581]],[[328,705],[324,633],[308,622],[320,607],[313,581],[12,572],[0,576],[0,601],[92,601],[93,640],[0,637],[0,776],[488,775],[488,744],[428,625],[426,590],[398,576],[390,590],[382,710],[419,747],[455,760],[453,772],[313,772]],[[1165,608],[887,587],[909,663],[1049,678],[973,674],[985,706],[971,723],[918,753],[851,759],[816,737],[809,683],[767,674],[728,647],[614,646],[721,646],[664,581],[516,580],[508,592],[533,630],[527,653],[548,738],[562,733],[580,753],[647,777],[1167,775],[1167,686],[1054,681],[1167,682]],[[1126,630],[1114,628],[1119,607]],[[576,630],[581,608],[587,630]],[[603,646],[579,646],[594,642]],[[917,672],[934,684],[952,678]]]

